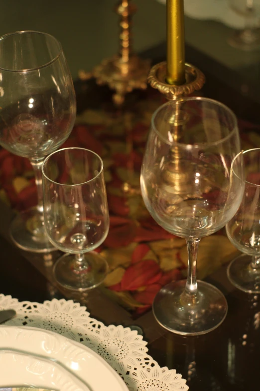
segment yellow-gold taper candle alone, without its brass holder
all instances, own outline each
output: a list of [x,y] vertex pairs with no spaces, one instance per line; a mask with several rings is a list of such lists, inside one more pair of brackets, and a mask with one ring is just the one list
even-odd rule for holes
[[167,82],[185,83],[185,37],[183,0],[166,0],[167,8]]

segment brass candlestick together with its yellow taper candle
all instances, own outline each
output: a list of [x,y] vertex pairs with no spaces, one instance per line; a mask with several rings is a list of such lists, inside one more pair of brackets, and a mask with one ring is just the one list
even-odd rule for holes
[[[205,82],[204,74],[195,66],[186,64],[184,42],[184,8],[183,0],[166,0],[167,6],[167,62],[154,65],[149,73],[148,82],[157,88],[167,99],[176,100],[200,90]],[[178,108],[170,119],[174,142],[179,141],[179,128],[185,119]],[[168,157],[164,174],[165,185],[174,195],[189,194],[189,175],[183,168],[181,151],[175,145]]]

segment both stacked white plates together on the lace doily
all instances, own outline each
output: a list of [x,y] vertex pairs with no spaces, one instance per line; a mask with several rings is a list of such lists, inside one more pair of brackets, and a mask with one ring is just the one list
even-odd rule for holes
[[32,327],[0,326],[0,388],[128,391],[120,376],[89,348]]

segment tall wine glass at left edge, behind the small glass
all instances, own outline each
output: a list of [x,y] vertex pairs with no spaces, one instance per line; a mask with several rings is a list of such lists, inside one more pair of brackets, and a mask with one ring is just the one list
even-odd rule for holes
[[37,207],[12,221],[11,237],[23,250],[55,250],[43,225],[41,166],[68,138],[76,116],[73,81],[56,38],[38,31],[0,37],[0,108],[0,145],[30,159],[38,192]]

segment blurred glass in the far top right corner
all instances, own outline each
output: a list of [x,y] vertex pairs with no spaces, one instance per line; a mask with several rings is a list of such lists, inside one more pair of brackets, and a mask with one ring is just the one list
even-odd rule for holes
[[229,0],[231,8],[245,18],[245,28],[229,38],[231,46],[241,50],[260,48],[260,0]]

